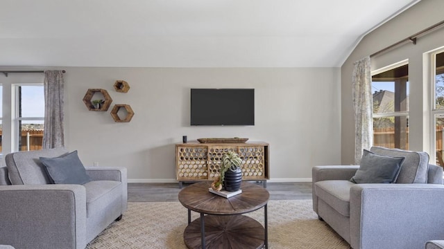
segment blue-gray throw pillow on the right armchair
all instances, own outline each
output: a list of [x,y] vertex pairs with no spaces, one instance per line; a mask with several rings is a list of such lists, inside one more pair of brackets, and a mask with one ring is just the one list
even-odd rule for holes
[[404,157],[381,156],[364,149],[360,167],[350,181],[353,183],[394,183]]

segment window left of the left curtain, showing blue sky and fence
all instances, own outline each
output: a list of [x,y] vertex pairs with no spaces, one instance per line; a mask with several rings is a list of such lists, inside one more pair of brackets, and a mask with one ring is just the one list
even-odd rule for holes
[[43,84],[15,85],[15,150],[42,149],[44,129]]

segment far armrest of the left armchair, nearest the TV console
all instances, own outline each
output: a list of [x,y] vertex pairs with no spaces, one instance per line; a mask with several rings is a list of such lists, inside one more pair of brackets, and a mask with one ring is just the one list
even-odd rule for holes
[[126,167],[85,167],[92,181],[119,181],[123,185],[122,214],[128,210],[128,178]]

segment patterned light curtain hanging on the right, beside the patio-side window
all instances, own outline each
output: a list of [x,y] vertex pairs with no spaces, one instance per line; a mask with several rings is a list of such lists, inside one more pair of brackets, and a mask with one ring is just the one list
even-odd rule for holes
[[352,99],[355,110],[355,164],[359,165],[363,149],[373,145],[373,96],[370,56],[354,63]]

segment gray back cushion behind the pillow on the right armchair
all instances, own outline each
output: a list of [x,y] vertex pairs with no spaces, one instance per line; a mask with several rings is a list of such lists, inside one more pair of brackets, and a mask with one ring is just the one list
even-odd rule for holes
[[400,174],[395,183],[427,183],[429,169],[429,154],[423,151],[406,151],[402,149],[387,149],[384,147],[371,147],[370,151],[382,156],[405,157]]

